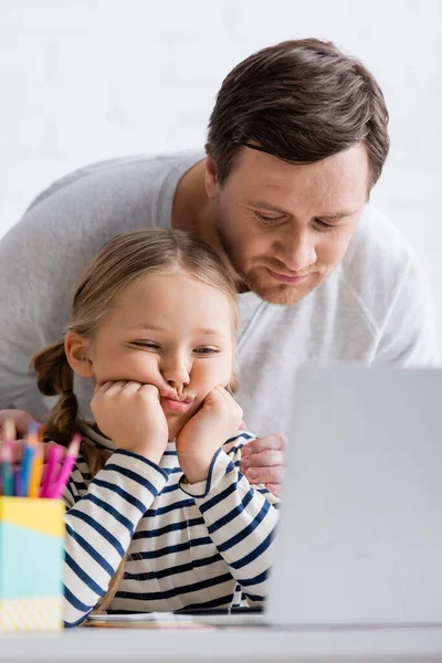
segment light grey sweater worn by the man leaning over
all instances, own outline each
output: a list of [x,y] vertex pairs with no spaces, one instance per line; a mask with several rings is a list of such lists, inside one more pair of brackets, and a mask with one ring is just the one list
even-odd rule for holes
[[[42,417],[48,402],[29,371],[31,356],[63,338],[74,283],[117,233],[170,228],[177,185],[203,152],[143,155],[73,172],[34,201],[0,242],[0,408]],[[400,218],[397,219],[400,224]],[[419,219],[417,219],[419,223]],[[292,385],[306,361],[434,366],[429,287],[410,244],[371,206],[343,262],[298,304],[239,296],[235,394],[248,427],[290,438]],[[92,382],[75,385],[83,415]]]

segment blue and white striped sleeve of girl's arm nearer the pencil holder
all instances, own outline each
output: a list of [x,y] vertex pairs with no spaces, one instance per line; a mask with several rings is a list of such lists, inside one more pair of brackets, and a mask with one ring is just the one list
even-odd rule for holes
[[80,498],[75,497],[78,478],[75,469],[63,495],[67,507],[66,627],[80,624],[106,593],[139,520],[166,485],[168,474],[138,454],[117,450]]

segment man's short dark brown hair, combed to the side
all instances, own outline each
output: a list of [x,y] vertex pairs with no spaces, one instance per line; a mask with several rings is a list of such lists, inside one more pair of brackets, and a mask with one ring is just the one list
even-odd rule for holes
[[222,183],[248,145],[313,164],[364,143],[370,188],[389,149],[388,112],[370,72],[332,42],[286,41],[250,55],[222,83],[206,149]]

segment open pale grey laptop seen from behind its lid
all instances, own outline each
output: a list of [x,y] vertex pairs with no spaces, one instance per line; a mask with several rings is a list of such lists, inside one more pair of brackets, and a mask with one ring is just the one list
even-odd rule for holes
[[442,622],[442,370],[304,367],[264,621]]

